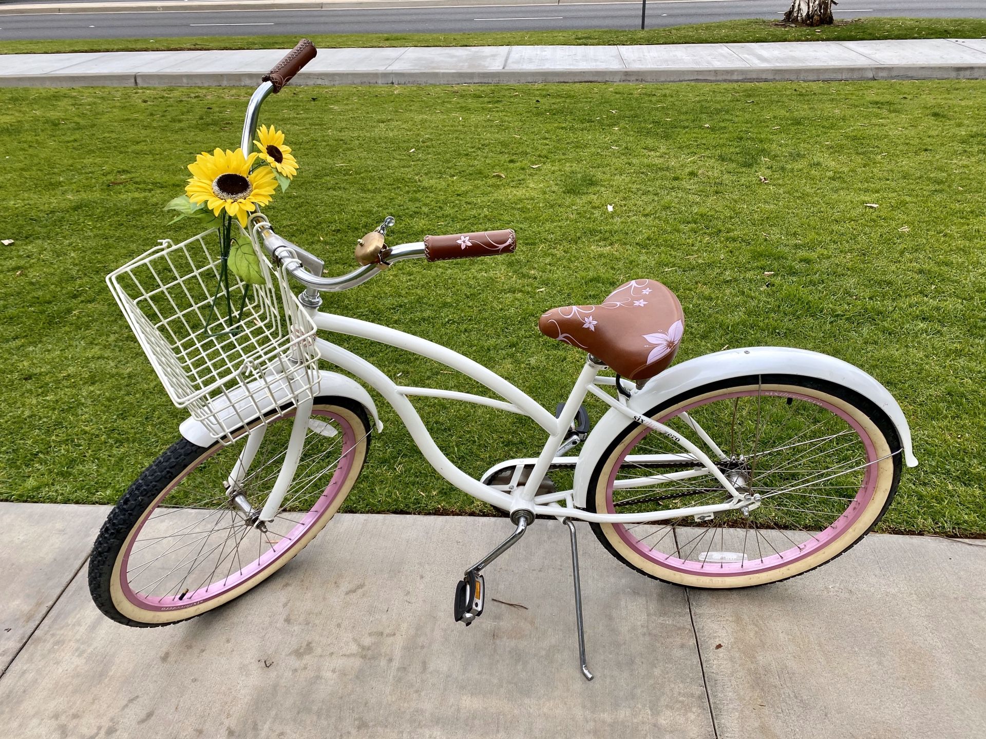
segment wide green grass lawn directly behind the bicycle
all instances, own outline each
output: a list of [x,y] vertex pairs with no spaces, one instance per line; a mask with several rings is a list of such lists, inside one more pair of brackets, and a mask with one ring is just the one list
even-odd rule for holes
[[[0,238],[14,239],[0,246],[0,499],[112,503],[176,439],[183,414],[104,276],[193,233],[161,208],[195,154],[239,140],[245,104],[242,90],[0,90]],[[553,408],[583,355],[537,316],[659,279],[686,313],[679,360],[798,346],[889,388],[921,466],[882,530],[986,532],[986,82],[287,88],[263,120],[302,165],[268,215],[328,272],[387,214],[391,242],[517,229],[514,255],[400,264],[326,309],[446,343]],[[340,343],[406,384],[474,389]],[[415,404],[472,473],[542,441],[510,414]],[[346,509],[488,512],[382,411]]]

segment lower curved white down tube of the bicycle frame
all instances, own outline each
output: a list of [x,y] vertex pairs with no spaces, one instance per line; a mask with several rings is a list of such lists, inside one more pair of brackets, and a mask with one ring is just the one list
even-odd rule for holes
[[404,422],[404,426],[407,427],[407,431],[410,432],[414,443],[421,449],[421,453],[424,454],[425,459],[428,460],[442,477],[455,485],[459,490],[468,493],[483,503],[488,503],[504,510],[510,510],[510,496],[489,488],[478,480],[466,475],[438,448],[438,445],[428,433],[428,429],[425,427],[418,412],[414,410],[411,401],[397,392],[397,385],[384,372],[378,370],[362,357],[357,357],[352,352],[330,344],[324,339],[316,339],[315,343],[318,354],[326,362],[331,362],[343,370],[352,372],[384,396],[387,403],[397,412],[400,420]]

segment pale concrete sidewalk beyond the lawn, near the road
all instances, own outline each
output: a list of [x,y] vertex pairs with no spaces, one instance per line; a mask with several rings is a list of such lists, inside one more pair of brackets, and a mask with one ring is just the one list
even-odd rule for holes
[[[0,87],[255,86],[286,50],[0,55]],[[327,48],[293,85],[986,79],[986,39]]]

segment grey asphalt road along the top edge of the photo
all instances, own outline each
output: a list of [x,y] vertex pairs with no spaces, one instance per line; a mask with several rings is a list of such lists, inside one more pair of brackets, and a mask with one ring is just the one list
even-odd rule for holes
[[[193,4],[192,2],[189,5]],[[649,0],[648,28],[743,18],[778,18],[786,0]],[[635,29],[640,2],[3,15],[0,40],[158,38],[189,35],[455,33]],[[842,0],[838,18],[986,18],[984,0]]]

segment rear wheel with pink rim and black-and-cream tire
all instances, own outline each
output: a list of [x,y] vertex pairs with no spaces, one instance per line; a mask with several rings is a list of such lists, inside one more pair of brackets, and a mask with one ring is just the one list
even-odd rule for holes
[[[708,520],[593,524],[624,564],[679,585],[748,587],[829,562],[876,525],[900,479],[893,424],[867,398],[831,382],[734,377],[643,415],[703,447],[738,492],[755,499],[745,511]],[[628,425],[593,473],[588,508],[664,513],[729,502],[716,478],[682,451],[648,427]]]

